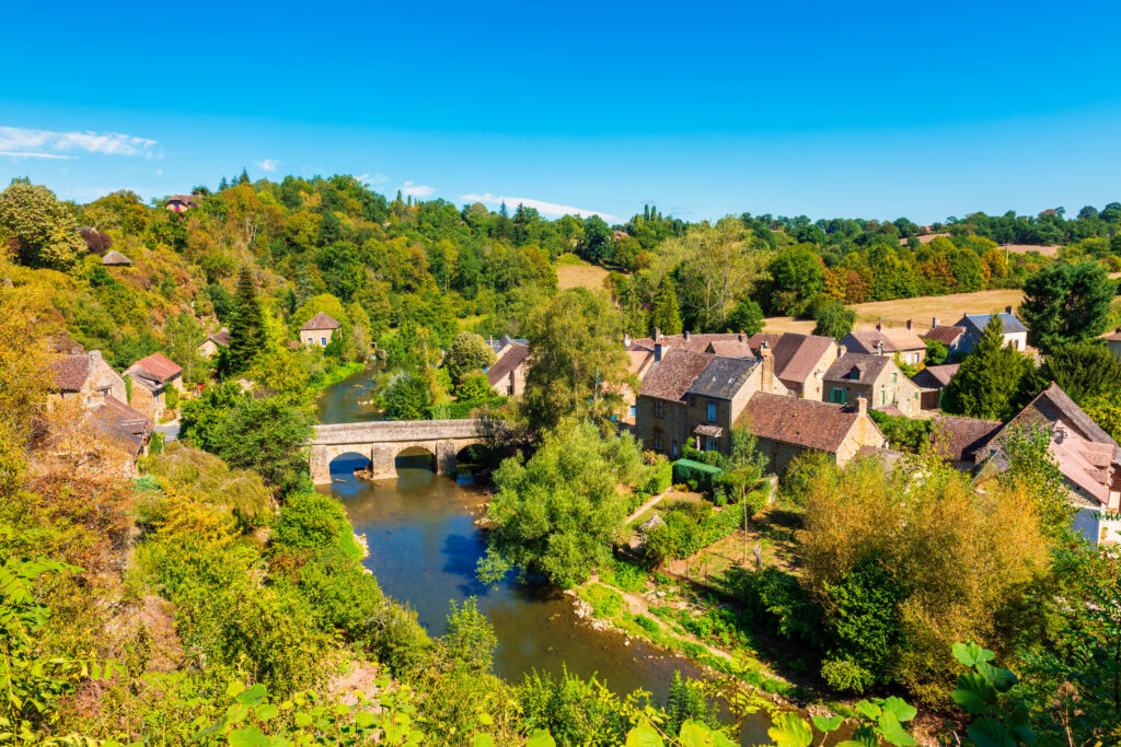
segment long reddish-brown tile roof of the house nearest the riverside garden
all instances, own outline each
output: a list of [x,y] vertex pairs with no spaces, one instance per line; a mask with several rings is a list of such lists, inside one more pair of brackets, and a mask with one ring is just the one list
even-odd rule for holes
[[836,454],[859,417],[841,404],[756,392],[736,424],[760,438]]

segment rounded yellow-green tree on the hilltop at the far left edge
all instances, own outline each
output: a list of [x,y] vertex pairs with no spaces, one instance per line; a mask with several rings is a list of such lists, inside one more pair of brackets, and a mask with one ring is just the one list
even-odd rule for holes
[[74,217],[55,193],[26,181],[13,180],[0,193],[0,246],[3,239],[19,262],[31,268],[65,272],[86,251]]

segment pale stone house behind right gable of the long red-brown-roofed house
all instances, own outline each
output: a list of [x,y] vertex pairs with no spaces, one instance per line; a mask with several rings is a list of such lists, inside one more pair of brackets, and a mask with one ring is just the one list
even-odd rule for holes
[[887,355],[845,353],[825,372],[823,400],[850,404],[863,398],[873,408],[893,405],[901,414],[919,414],[920,390]]

